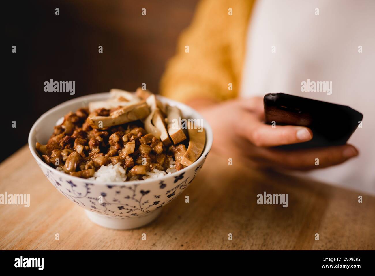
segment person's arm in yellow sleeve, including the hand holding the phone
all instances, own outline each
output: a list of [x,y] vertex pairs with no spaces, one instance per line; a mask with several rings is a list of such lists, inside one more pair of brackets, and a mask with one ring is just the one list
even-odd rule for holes
[[[198,110],[213,129],[212,148],[228,157],[240,156],[249,166],[311,170],[358,155],[352,145],[289,152],[273,149],[308,141],[313,133],[306,127],[271,128],[264,124],[262,98],[231,100],[238,95],[249,20],[244,13],[250,13],[251,4],[242,0],[202,1],[193,23],[181,36],[177,55],[167,65],[161,94]],[[233,8],[233,15],[228,15],[228,8]],[[189,46],[189,53],[185,53],[185,46]],[[228,90],[229,83],[233,90]],[[320,166],[315,166],[315,158],[319,158]]]

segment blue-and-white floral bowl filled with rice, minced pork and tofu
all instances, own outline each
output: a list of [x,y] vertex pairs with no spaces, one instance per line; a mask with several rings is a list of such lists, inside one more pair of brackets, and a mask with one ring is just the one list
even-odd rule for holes
[[[120,95],[123,95],[125,99],[121,99]],[[134,99],[134,96],[137,96],[138,99]],[[196,110],[183,103],[162,96],[157,96],[156,99],[153,96],[150,100],[145,101],[145,98],[139,96],[138,92],[111,90],[110,93],[96,93],[66,101],[43,113],[33,124],[28,135],[31,154],[46,179],[65,198],[82,208],[92,222],[107,228],[132,229],[147,225],[159,216],[166,204],[184,193],[185,189],[193,182],[204,184],[201,180],[194,179],[200,174],[212,146],[213,133],[210,125]],[[149,97],[150,94],[146,96]],[[140,103],[141,101],[148,102],[148,110]],[[177,109],[171,107],[177,107]],[[89,114],[87,117],[92,119],[90,124],[92,123],[93,126],[92,130],[88,129],[80,133],[83,131],[81,130],[83,124],[89,122],[89,119],[82,117],[76,121],[77,118],[71,113],[77,116],[82,115],[80,112],[77,114],[77,111],[82,108]],[[99,115],[95,110],[101,108],[107,111]],[[160,111],[156,112],[156,108]],[[121,110],[113,113],[115,109]],[[108,113],[110,116],[107,116]],[[147,113],[149,114],[146,115]],[[71,115],[67,116],[68,114]],[[62,116],[63,118],[59,120]],[[137,119],[139,116],[145,117]],[[178,116],[186,119],[202,118],[204,140],[194,127],[180,130],[171,126],[171,121]],[[102,128],[99,127],[99,121],[103,123]],[[73,124],[71,125],[71,123]],[[115,130],[114,128],[122,129]],[[121,137],[122,133],[118,135],[120,136],[118,139],[120,148],[116,149],[117,146],[113,142],[111,142],[113,145],[110,144],[110,137],[113,133],[123,131],[127,136],[131,131],[136,133],[134,128],[143,130],[138,129],[137,133],[141,132],[141,134],[135,139],[133,153],[123,153],[126,144],[132,139],[124,142],[123,136]],[[99,134],[103,131],[107,131],[108,135]],[[163,135],[161,135],[162,132]],[[133,167],[142,166],[142,153],[139,146],[141,145],[140,139],[146,134],[152,134],[162,142],[162,152],[159,155],[165,157],[165,160],[171,157],[172,161],[169,160],[169,166],[166,166],[167,162],[165,164],[161,162],[162,157],[158,157],[155,152],[158,143],[155,143],[153,145],[155,150],[151,148],[149,154],[151,160],[146,158],[146,163],[143,165],[145,173],[133,175],[131,173]],[[81,135],[81,137],[77,135]],[[65,138],[66,136],[67,138]],[[72,136],[77,137],[72,138]],[[129,134],[129,136],[137,136],[137,134]],[[99,137],[102,137],[103,141],[99,141],[101,140]],[[86,142],[82,140],[76,142],[77,138],[84,139]],[[96,149],[98,146],[95,141],[89,144],[91,138],[95,138],[99,143],[99,151]],[[145,138],[142,141],[151,147],[152,139],[144,141]],[[115,142],[117,138],[112,137],[111,140]],[[61,142],[63,143],[60,146]],[[92,149],[90,149],[90,145],[92,145]],[[110,151],[111,147],[115,149],[115,152]],[[204,150],[201,151],[203,147]],[[66,151],[63,152],[65,149]],[[127,149],[133,150],[130,146]],[[72,158],[66,165],[71,154]],[[77,163],[75,164],[73,156],[77,154],[79,156],[76,156]],[[134,166],[126,167],[127,159],[129,159],[128,162],[130,161],[130,158],[126,158],[127,155],[132,157]],[[99,162],[105,161],[105,157],[110,158],[111,162],[99,164]],[[97,158],[98,160],[96,160]],[[93,174],[88,173],[90,171],[83,172],[86,165],[87,169],[94,165],[90,170]],[[163,169],[158,169],[158,166],[163,166]],[[66,170],[71,170],[71,172]],[[77,174],[82,175],[78,177]]]

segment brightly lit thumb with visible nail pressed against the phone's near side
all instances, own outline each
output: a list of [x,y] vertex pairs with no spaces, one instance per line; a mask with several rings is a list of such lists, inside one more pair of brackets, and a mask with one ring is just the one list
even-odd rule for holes
[[312,131],[306,127],[280,126],[273,128],[263,124],[247,111],[241,112],[241,126],[237,132],[256,146],[269,147],[306,142],[312,139]]

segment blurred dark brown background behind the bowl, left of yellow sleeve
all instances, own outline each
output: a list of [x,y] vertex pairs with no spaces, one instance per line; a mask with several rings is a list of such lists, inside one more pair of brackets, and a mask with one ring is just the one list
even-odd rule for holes
[[[197,2],[45,0],[4,5],[6,130],[0,161],[25,145],[36,119],[57,104],[111,88],[134,91],[142,83],[157,93],[166,61]],[[141,15],[142,8],[146,15]],[[17,53],[12,53],[13,45]],[[51,78],[75,81],[75,95],[44,92],[44,82]]]

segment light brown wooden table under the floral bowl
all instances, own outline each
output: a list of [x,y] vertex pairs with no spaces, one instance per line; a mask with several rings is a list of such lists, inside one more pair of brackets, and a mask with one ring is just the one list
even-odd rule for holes
[[[119,231],[95,225],[58,193],[24,146],[0,164],[0,193],[30,194],[30,207],[0,205],[0,249],[375,249],[373,196],[266,175],[236,160],[228,166],[228,157],[211,152],[155,222]],[[264,191],[288,193],[289,206],[258,205]]]

